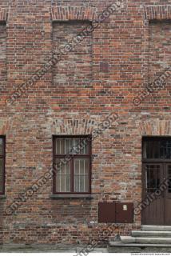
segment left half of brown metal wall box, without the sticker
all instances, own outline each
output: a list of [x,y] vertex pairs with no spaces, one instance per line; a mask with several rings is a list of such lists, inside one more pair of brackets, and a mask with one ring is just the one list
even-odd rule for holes
[[115,222],[116,216],[115,202],[98,203],[98,222],[112,223]]

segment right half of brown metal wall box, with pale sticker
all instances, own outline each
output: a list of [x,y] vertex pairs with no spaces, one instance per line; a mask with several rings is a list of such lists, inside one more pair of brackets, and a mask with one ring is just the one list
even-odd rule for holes
[[133,223],[133,202],[116,203],[116,223]]

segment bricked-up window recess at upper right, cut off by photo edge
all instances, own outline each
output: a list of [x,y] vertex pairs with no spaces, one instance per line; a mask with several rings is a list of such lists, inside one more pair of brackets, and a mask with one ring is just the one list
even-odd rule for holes
[[[166,70],[171,63],[171,22],[170,20],[159,20],[150,22],[149,25],[149,82],[153,82]],[[160,93],[160,102],[169,103],[170,79],[165,82],[165,90]],[[157,97],[157,95],[155,95]]]

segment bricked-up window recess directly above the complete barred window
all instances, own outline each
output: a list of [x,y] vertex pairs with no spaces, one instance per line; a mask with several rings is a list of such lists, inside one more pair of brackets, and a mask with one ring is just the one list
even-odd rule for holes
[[[89,26],[89,22],[57,22],[54,23],[53,30],[53,49],[54,53],[58,49],[65,47],[67,42]],[[53,82],[55,90],[58,91],[58,98],[61,98],[61,106],[67,108],[72,107],[77,102],[72,101],[72,95],[79,97],[87,90],[92,81],[92,34],[89,34],[85,40],[74,47],[70,54],[66,54],[65,58],[54,67]],[[66,94],[66,90],[70,91],[70,98]],[[71,103],[70,103],[71,101]],[[86,104],[86,102],[85,102]],[[85,106],[82,106],[85,108]]]

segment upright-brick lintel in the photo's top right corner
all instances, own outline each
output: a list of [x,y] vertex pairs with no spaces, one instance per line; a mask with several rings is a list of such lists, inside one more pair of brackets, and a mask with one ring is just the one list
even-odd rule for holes
[[170,19],[171,5],[145,6],[145,19]]

